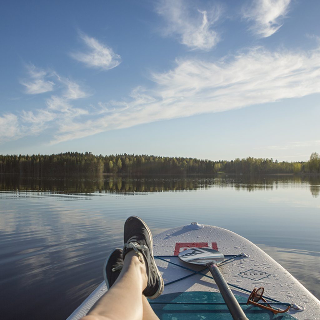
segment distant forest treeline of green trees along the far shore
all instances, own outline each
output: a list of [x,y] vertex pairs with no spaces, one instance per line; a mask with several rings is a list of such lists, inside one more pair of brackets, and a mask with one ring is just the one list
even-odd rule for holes
[[313,152],[306,162],[278,162],[248,157],[231,161],[147,155],[95,156],[91,152],[56,155],[0,155],[0,173],[30,177],[79,174],[243,174],[307,173],[320,174],[320,156]]

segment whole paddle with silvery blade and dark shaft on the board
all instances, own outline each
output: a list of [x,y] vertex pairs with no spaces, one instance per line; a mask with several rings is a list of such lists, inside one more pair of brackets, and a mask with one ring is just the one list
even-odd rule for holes
[[178,257],[180,260],[188,263],[207,266],[227,304],[232,318],[234,320],[249,320],[217,266],[224,261],[224,255],[221,252],[206,248],[190,248],[180,252]]

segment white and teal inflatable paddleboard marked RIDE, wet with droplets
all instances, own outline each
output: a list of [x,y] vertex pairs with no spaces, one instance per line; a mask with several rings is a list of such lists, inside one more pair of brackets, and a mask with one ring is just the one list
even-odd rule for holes
[[[165,289],[160,297],[149,302],[161,320],[232,319],[209,270],[178,258],[179,252],[188,248],[215,249],[225,256],[219,269],[250,320],[320,319],[320,301],[268,254],[232,231],[191,223],[164,231],[153,242]],[[275,315],[247,305],[250,293],[258,287],[264,287],[263,297],[273,308],[292,308]],[[67,320],[86,315],[106,291],[103,282]]]

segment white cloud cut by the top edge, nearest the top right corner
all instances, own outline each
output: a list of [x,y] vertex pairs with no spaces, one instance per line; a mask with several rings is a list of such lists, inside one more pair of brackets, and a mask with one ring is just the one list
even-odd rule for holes
[[288,12],[291,0],[255,0],[244,10],[243,17],[254,21],[250,28],[260,37],[273,35],[282,26],[281,21]]

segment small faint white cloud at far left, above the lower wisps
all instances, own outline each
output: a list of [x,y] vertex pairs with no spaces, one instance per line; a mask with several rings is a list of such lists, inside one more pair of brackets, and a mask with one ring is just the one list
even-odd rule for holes
[[27,68],[31,79],[20,81],[26,87],[26,93],[38,94],[53,90],[54,83],[45,79],[48,76],[46,71],[38,69],[32,64],[29,64]]

